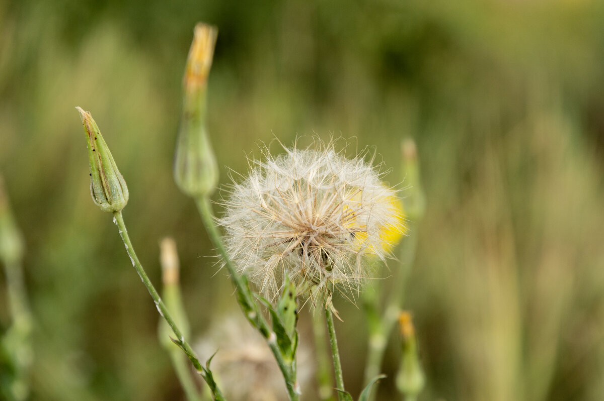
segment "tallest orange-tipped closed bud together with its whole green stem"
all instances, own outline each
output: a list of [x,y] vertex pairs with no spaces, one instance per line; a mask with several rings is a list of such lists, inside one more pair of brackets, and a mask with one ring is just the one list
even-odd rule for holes
[[[271,311],[274,327],[269,326],[255,301],[257,297],[249,289],[248,280],[245,276],[240,276],[226,253],[210,204],[210,195],[218,182],[218,168],[206,127],[207,81],[217,33],[216,27],[201,23],[196,25],[194,30],[193,43],[191,43],[187,57],[183,80],[182,118],[176,144],[174,177],[176,185],[181,191],[196,201],[208,236],[229,271],[237,292],[237,302],[249,323],[266,339],[283,374],[289,398],[295,401],[300,398],[300,388],[296,378],[297,332],[295,332],[295,326],[294,333],[274,330],[274,327],[280,324],[278,320],[282,316],[278,311],[272,309],[271,305],[266,305]],[[289,338],[289,335],[294,335],[295,341]],[[291,347],[287,350],[281,348],[280,341],[282,340]]]

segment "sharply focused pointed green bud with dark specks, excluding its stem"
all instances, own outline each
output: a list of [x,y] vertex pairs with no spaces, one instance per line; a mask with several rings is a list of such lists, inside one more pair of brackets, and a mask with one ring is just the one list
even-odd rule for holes
[[76,107],[86,131],[92,200],[104,212],[119,212],[128,203],[128,187],[115,165],[97,123],[90,112]]

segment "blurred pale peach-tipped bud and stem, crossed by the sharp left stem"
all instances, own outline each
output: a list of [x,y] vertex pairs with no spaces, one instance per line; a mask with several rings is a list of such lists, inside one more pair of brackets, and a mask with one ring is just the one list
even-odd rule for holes
[[[182,295],[179,283],[179,263],[176,252],[176,242],[172,238],[164,238],[159,244],[161,262],[162,283],[164,285],[162,297],[165,305],[172,312],[176,323],[181,327],[185,336],[190,335],[187,313],[182,305]],[[159,320],[158,327],[159,342],[170,354],[172,365],[176,372],[182,389],[185,391],[187,401],[200,401],[201,395],[191,377],[191,370],[187,358],[178,346],[170,340],[170,327],[163,319]]]

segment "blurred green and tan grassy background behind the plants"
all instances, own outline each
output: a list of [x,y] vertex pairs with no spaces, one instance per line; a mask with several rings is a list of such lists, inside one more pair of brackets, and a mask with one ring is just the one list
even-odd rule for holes
[[[182,399],[157,312],[91,201],[74,106],[126,178],[124,216],[156,283],[159,239],[178,242],[193,332],[237,309],[172,180],[198,21],[219,27],[209,126],[222,183],[261,141],[316,133],[375,147],[396,184],[400,139],[416,139],[428,208],[406,308],[421,399],[604,399],[604,3],[22,0],[0,2],[0,171],[28,248],[32,399]],[[358,394],[363,318],[336,306]]]

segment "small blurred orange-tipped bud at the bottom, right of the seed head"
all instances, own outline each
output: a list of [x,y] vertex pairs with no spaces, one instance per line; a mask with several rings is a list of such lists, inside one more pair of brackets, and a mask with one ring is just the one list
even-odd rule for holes
[[396,376],[396,387],[407,399],[416,399],[423,390],[425,377],[417,354],[417,338],[411,314],[400,312],[399,328],[402,345],[399,373]]

